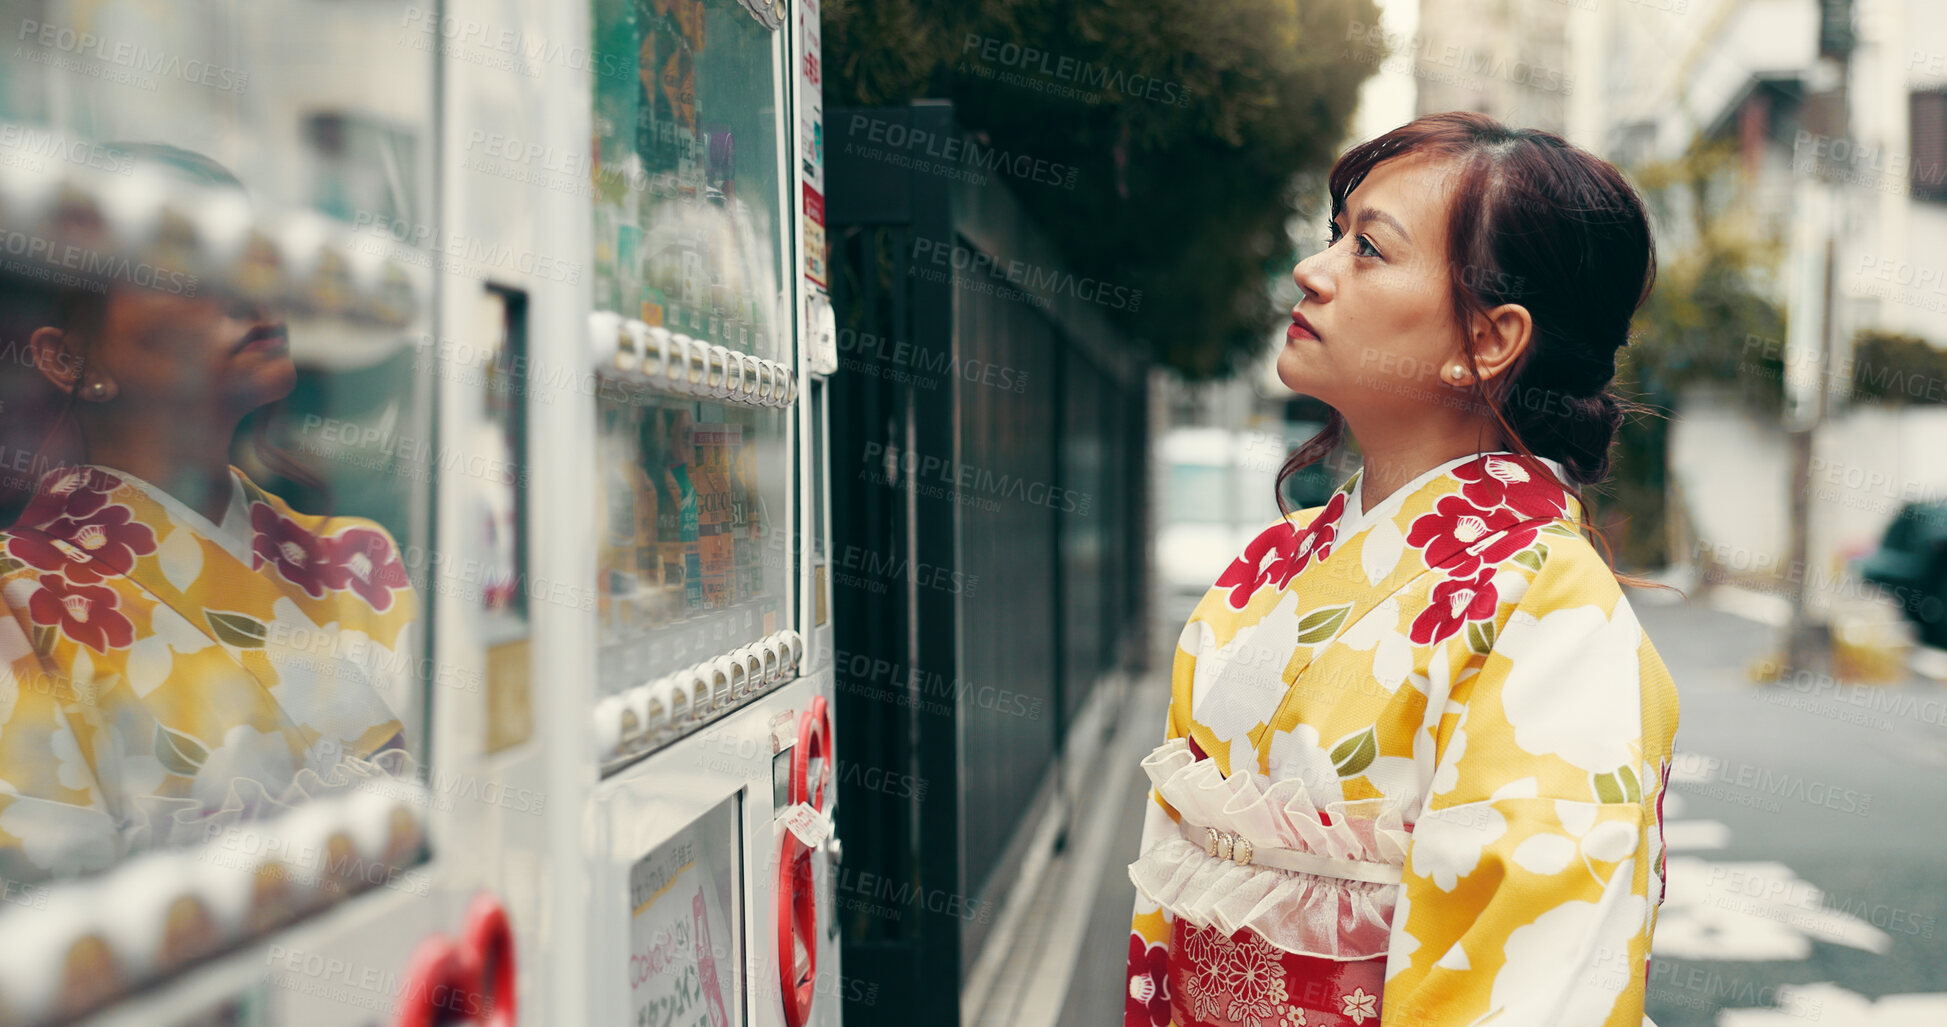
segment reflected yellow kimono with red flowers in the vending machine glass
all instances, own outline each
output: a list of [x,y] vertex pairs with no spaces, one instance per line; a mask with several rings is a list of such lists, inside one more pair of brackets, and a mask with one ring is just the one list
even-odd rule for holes
[[129,474],[55,470],[0,532],[0,875],[99,869],[411,764],[391,536],[232,474],[210,524]]

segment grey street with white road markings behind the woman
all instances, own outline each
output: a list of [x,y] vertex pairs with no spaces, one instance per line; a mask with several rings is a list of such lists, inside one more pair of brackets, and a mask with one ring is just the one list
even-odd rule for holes
[[[1632,596],[1682,694],[1649,1017],[1659,1027],[1947,1023],[1947,686],[1920,676],[1754,686],[1746,666],[1778,628],[1735,594],[1665,596]],[[1188,600],[1160,610],[1160,655],[1123,737],[1160,737],[1170,624],[1188,612]],[[1143,746],[1110,752],[1127,748]],[[1139,780],[1102,774],[1104,801],[1123,817],[1086,906],[1088,943],[1061,1025],[1121,1023]],[[1069,902],[1083,916],[1088,898]]]

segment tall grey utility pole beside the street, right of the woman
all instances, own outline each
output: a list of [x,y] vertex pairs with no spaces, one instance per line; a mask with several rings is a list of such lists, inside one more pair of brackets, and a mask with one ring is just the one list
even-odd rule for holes
[[[1846,140],[1852,133],[1852,0],[1818,0],[1818,72],[1830,78],[1830,88],[1809,92],[1809,129],[1828,140]],[[1832,629],[1807,610],[1811,590],[1811,503],[1813,503],[1813,442],[1830,413],[1832,349],[1838,327],[1838,296],[1834,294],[1836,226],[1842,205],[1838,191],[1826,181],[1826,168],[1813,150],[1809,173],[1813,181],[1799,189],[1793,236],[1795,298],[1787,310],[1785,339],[1785,417],[1791,440],[1791,542],[1785,567],[1797,575],[1791,592],[1791,624],[1785,628],[1785,657],[1780,672],[1813,668],[1830,651]],[[1826,146],[1824,150],[1830,150]],[[1793,160],[1797,164],[1797,158]],[[1799,171],[1799,168],[1793,168]],[[1799,296],[1817,296],[1801,302]]]

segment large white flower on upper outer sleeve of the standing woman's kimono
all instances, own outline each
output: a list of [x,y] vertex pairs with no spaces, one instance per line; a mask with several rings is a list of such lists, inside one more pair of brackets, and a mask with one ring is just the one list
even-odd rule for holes
[[1635,614],[1622,602],[1612,618],[1598,606],[1542,618],[1515,612],[1493,645],[1511,661],[1501,707],[1515,744],[1589,774],[1634,766],[1632,744],[1641,737],[1635,655],[1641,637]]

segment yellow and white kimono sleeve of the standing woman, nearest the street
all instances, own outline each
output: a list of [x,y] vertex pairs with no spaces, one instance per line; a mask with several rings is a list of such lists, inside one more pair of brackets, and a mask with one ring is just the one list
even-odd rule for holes
[[1530,583],[1519,565],[1493,579],[1486,657],[1464,631],[1449,643],[1468,663],[1429,727],[1388,1027],[1643,1023],[1674,690],[1600,557],[1552,542]]

